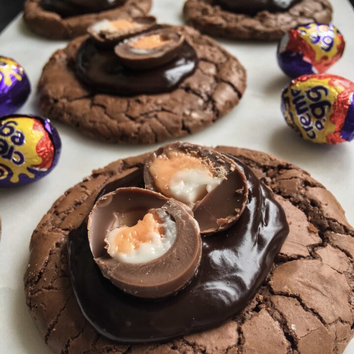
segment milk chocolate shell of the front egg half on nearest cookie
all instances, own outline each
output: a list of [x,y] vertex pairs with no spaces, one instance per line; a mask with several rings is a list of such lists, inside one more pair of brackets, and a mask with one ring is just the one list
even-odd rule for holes
[[[176,228],[174,242],[165,253],[141,263],[136,259],[128,260],[126,255],[118,259],[117,254],[111,253],[111,247],[126,245],[119,240],[120,233],[117,234],[119,243],[114,243],[116,239],[107,242],[112,230],[135,227],[148,213],[161,212],[168,215],[170,224],[174,224],[172,228]],[[89,215],[88,230],[90,249],[102,274],[125,293],[138,297],[162,298],[175,294],[192,279],[201,261],[202,240],[190,212],[174,200],[146,189],[118,188],[102,196]],[[166,227],[165,238],[167,231]],[[139,236],[139,232],[135,235]],[[141,243],[134,251],[138,252],[138,257],[142,254],[145,257]]]

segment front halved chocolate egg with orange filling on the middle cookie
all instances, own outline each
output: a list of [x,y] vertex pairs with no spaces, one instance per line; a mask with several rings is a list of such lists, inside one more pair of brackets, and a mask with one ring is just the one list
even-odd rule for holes
[[157,29],[128,38],[115,48],[122,63],[132,69],[155,68],[175,59],[184,36],[173,29]]

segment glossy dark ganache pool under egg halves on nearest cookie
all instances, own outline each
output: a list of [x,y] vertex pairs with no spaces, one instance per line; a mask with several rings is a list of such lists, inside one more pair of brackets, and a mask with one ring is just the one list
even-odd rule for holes
[[[247,177],[249,203],[230,229],[203,237],[198,273],[175,296],[152,301],[119,291],[93,260],[87,222],[70,232],[72,286],[84,316],[100,334],[125,343],[170,340],[233,318],[253,298],[289,226],[272,192],[247,166],[236,163]],[[108,184],[101,194],[134,185],[144,186],[143,169]]]

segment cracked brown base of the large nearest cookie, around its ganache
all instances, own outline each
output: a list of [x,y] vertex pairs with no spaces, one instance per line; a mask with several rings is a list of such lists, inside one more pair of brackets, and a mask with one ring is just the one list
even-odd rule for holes
[[290,234],[264,285],[222,326],[147,345],[118,345],[82,315],[67,268],[67,235],[89,214],[101,188],[148,154],[99,169],[61,196],[30,243],[27,304],[45,342],[60,354],[341,354],[354,336],[354,229],[333,195],[296,166],[262,152],[219,147],[252,168],[284,207]]

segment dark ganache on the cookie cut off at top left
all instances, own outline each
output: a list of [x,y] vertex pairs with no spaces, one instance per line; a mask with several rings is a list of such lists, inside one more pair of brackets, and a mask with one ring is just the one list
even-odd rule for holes
[[118,7],[126,0],[42,0],[41,7],[55,12],[62,18],[100,12]]

